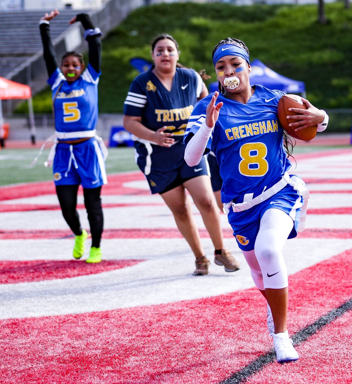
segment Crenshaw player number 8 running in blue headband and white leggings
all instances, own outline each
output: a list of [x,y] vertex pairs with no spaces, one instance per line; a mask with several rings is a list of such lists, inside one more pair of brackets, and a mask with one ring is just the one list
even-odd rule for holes
[[[288,175],[291,163],[277,114],[284,93],[250,86],[249,51],[240,40],[220,41],[213,50],[213,63],[220,93],[195,106],[184,138],[185,159],[193,166],[204,153],[215,153],[228,221],[254,283],[268,302],[277,361],[295,361],[298,354],[286,327],[288,274],[282,248],[304,229],[309,192],[299,177]],[[308,108],[292,109],[297,113],[291,116],[297,120],[292,126],[299,130],[318,124],[318,131],[323,131],[326,113],[302,101]]]

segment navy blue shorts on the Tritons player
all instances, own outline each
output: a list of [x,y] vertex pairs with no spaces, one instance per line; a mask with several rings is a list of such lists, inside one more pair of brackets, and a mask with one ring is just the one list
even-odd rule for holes
[[193,177],[209,175],[205,156],[197,166],[187,165],[183,142],[169,148],[135,142],[135,147],[138,154],[137,165],[148,180],[152,194],[167,192]]

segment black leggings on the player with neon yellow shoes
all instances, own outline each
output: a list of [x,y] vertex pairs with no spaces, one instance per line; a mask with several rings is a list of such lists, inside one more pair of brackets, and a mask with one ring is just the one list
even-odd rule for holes
[[[66,223],[68,223],[75,235],[82,234],[81,223],[77,212],[77,192],[79,185],[57,185],[61,211]],[[88,221],[91,227],[92,247],[100,247],[100,240],[104,226],[104,217],[101,207],[101,187],[87,189],[83,188],[84,205],[88,214]]]

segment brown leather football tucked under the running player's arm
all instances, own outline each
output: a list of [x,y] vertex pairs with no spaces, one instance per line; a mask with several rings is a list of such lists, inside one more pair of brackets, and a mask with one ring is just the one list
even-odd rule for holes
[[286,119],[286,116],[297,114],[297,112],[290,112],[288,110],[289,108],[307,109],[307,107],[302,104],[300,96],[288,94],[281,97],[278,103],[278,117],[285,132],[288,133],[291,137],[299,140],[309,141],[314,139],[317,134],[316,125],[302,129],[301,131],[295,131],[295,127],[289,127],[289,123],[297,121],[294,119]]

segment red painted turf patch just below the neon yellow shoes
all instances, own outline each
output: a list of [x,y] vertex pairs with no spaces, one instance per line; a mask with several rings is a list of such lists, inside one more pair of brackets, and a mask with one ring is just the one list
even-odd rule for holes
[[84,260],[0,261],[0,284],[64,279],[112,271],[136,265],[144,260],[102,260],[88,264]]

